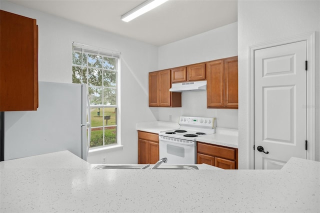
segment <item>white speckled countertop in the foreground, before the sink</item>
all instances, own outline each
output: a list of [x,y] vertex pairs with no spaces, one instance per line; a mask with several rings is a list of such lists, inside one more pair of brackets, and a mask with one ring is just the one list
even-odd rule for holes
[[91,169],[68,151],[0,162],[0,212],[319,212],[320,162],[280,170]]

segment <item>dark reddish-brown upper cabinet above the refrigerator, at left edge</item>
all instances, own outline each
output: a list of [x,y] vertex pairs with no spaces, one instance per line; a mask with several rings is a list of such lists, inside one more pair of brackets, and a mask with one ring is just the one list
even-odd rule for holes
[[38,107],[36,20],[0,10],[0,111]]

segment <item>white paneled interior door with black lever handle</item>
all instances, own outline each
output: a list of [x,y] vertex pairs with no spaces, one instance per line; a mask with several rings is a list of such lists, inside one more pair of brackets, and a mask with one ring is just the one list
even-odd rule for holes
[[306,158],[305,61],[306,41],[254,51],[255,169]]

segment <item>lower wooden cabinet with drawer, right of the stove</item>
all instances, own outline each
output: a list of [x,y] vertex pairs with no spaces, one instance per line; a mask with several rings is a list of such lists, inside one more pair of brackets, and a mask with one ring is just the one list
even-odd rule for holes
[[223,169],[237,169],[238,149],[197,142],[197,163],[206,163]]

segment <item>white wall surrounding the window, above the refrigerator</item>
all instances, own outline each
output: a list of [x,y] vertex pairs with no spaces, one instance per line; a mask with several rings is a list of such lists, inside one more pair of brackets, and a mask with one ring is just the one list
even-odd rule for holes
[[1,1],[1,9],[35,18],[38,24],[38,79],[71,82],[71,43],[121,52],[121,144],[123,149],[90,154],[88,161],[101,163],[137,162],[135,124],[156,120],[148,107],[148,75],[157,69],[157,47],[63,18]]

